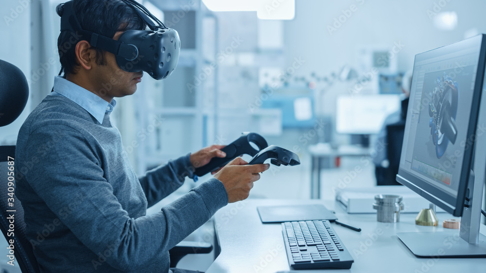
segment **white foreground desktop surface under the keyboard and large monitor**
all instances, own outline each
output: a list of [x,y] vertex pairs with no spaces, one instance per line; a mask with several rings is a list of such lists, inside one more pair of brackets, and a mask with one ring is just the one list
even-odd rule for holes
[[[280,224],[261,224],[257,206],[324,204],[340,220],[361,227],[361,232],[331,224],[354,258],[350,270],[306,270],[325,273],[479,273],[486,272],[486,258],[417,258],[399,240],[397,232],[440,231],[442,226],[415,225],[416,213],[400,215],[399,223],[379,223],[376,214],[347,214],[334,201],[253,199],[229,204],[215,214],[221,253],[207,273],[276,273],[288,271]],[[439,223],[450,214],[438,213]],[[481,226],[486,234],[486,226]],[[426,243],[426,242],[424,242]],[[446,246],[444,247],[446,249]],[[447,251],[447,250],[446,250]]]

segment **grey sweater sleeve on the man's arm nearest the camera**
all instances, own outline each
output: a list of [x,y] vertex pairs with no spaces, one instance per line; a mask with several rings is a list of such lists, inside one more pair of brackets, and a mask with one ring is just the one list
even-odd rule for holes
[[[212,178],[155,214],[130,218],[104,178],[97,147],[82,133],[64,125],[38,128],[29,137],[26,158],[39,156],[36,147],[47,141],[56,143],[55,147],[40,156],[26,180],[93,253],[113,246],[106,262],[116,269],[134,270],[150,264],[228,202],[223,184]],[[63,212],[65,208],[69,213]]]

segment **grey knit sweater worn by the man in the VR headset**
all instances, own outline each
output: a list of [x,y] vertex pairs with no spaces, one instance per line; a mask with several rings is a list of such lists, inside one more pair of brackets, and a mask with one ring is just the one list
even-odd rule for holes
[[16,195],[42,272],[169,272],[168,250],[228,203],[212,178],[153,215],[192,176],[189,155],[137,177],[109,113],[47,96],[20,128]]

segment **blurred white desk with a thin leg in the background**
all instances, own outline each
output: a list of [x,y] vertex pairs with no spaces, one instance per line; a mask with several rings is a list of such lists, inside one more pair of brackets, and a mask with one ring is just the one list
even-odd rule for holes
[[[370,148],[364,148],[358,145],[340,145],[337,148],[332,148],[329,143],[310,145],[309,153],[312,157],[311,198],[319,199],[321,197],[320,174],[323,167],[322,161],[324,159],[332,162],[336,157],[363,157],[368,156],[370,151]],[[330,166],[328,166],[328,168],[330,168]]]

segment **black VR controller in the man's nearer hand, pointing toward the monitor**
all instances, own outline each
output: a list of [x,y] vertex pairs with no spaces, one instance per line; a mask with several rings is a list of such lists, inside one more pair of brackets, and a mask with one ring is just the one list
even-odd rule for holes
[[267,159],[272,159],[270,163],[277,166],[295,166],[300,164],[299,157],[294,152],[291,152],[284,148],[280,148],[275,145],[270,145],[261,150],[256,156],[254,156],[248,162],[248,165],[263,164],[263,162],[265,162],[265,160]]

